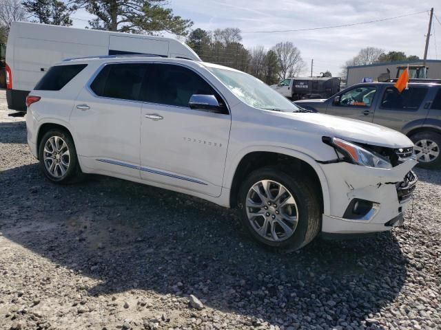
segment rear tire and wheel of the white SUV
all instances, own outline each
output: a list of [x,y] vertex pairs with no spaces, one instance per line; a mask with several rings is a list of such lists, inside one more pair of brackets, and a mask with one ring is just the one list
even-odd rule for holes
[[62,129],[51,129],[43,135],[39,162],[44,175],[59,184],[72,183],[81,175],[74,141]]

